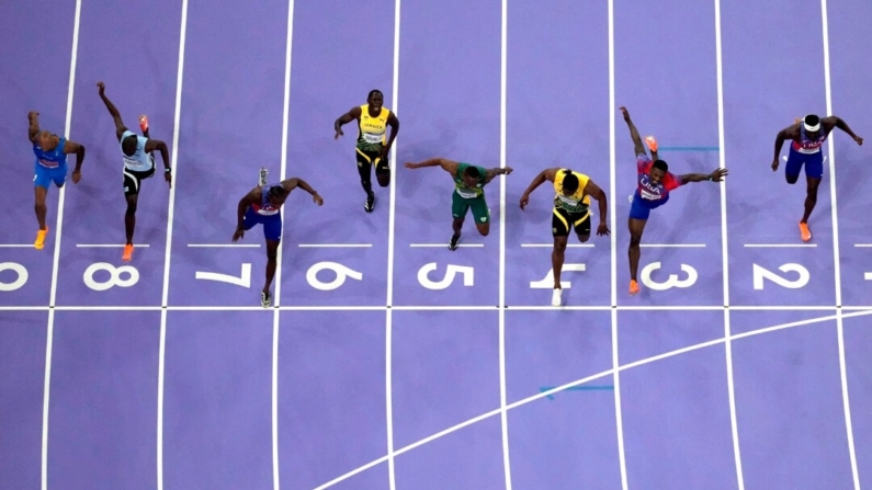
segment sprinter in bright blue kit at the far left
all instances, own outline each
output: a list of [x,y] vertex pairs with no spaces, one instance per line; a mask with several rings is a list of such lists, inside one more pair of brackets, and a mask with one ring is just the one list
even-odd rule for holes
[[33,187],[36,212],[36,221],[39,230],[36,231],[36,240],[33,247],[42,250],[45,247],[45,236],[48,227],[45,225],[45,196],[48,194],[48,186],[52,182],[58,189],[67,182],[67,155],[76,153],[76,169],[72,171],[72,183],[78,184],[82,176],[82,160],[84,160],[84,147],[78,143],[72,143],[63,136],[39,129],[39,113],[31,111],[27,114],[29,129],[27,138],[33,144],[33,153],[36,162],[33,170]]

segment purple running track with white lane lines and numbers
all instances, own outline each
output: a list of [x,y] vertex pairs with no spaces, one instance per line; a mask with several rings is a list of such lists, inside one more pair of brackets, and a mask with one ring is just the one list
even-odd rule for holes
[[[714,2],[407,0],[395,32],[389,0],[82,0],[75,53],[76,2],[0,7],[0,487],[859,488],[869,144],[839,130],[825,144],[809,243],[805,185],[769,164],[805,113],[870,136],[872,68],[857,59],[872,7],[830,0],[825,36],[820,2],[788,3],[721,4],[720,78]],[[171,190],[159,157],[144,182],[131,263],[98,80],[175,157]],[[366,214],[356,128],[335,140],[332,123],[372,89],[401,130]],[[635,297],[620,105],[673,172],[731,170],[652,213]],[[88,148],[82,181],[49,190],[42,251],[30,110]],[[449,175],[403,167],[432,157],[514,169],[486,187],[490,233],[467,217],[453,252]],[[230,243],[261,167],[325,198],[287,202],[275,310],[258,305],[261,229]],[[570,237],[560,309],[547,307],[553,189],[518,206],[550,167],[607,191],[612,232]]]

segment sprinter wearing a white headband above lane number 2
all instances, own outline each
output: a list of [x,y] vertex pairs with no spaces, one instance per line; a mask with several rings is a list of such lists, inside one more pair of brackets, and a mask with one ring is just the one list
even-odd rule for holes
[[805,167],[805,213],[800,220],[800,238],[803,241],[812,239],[812,231],[808,229],[808,216],[817,204],[817,187],[824,178],[824,153],[820,147],[826,141],[833,128],[838,127],[843,130],[858,145],[863,144],[863,138],[853,134],[845,121],[829,116],[823,119],[815,114],[808,114],[802,119],[796,119],[792,126],[781,129],[775,137],[775,156],[772,159],[772,171],[778,170],[778,153],[785,139],[791,140],[788,163],[784,166],[784,176],[789,184],[795,184],[800,179],[800,170]]

